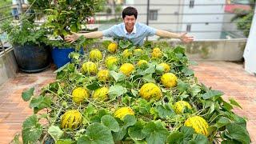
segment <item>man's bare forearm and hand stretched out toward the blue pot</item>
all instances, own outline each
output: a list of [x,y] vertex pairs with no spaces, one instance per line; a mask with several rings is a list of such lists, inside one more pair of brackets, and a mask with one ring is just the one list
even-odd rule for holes
[[103,37],[103,32],[102,31],[94,31],[94,32],[90,32],[90,33],[73,33],[72,35],[67,35],[65,37],[65,41],[66,42],[70,42],[73,43],[76,40],[78,40],[79,37],[84,36],[85,38],[102,38]]

